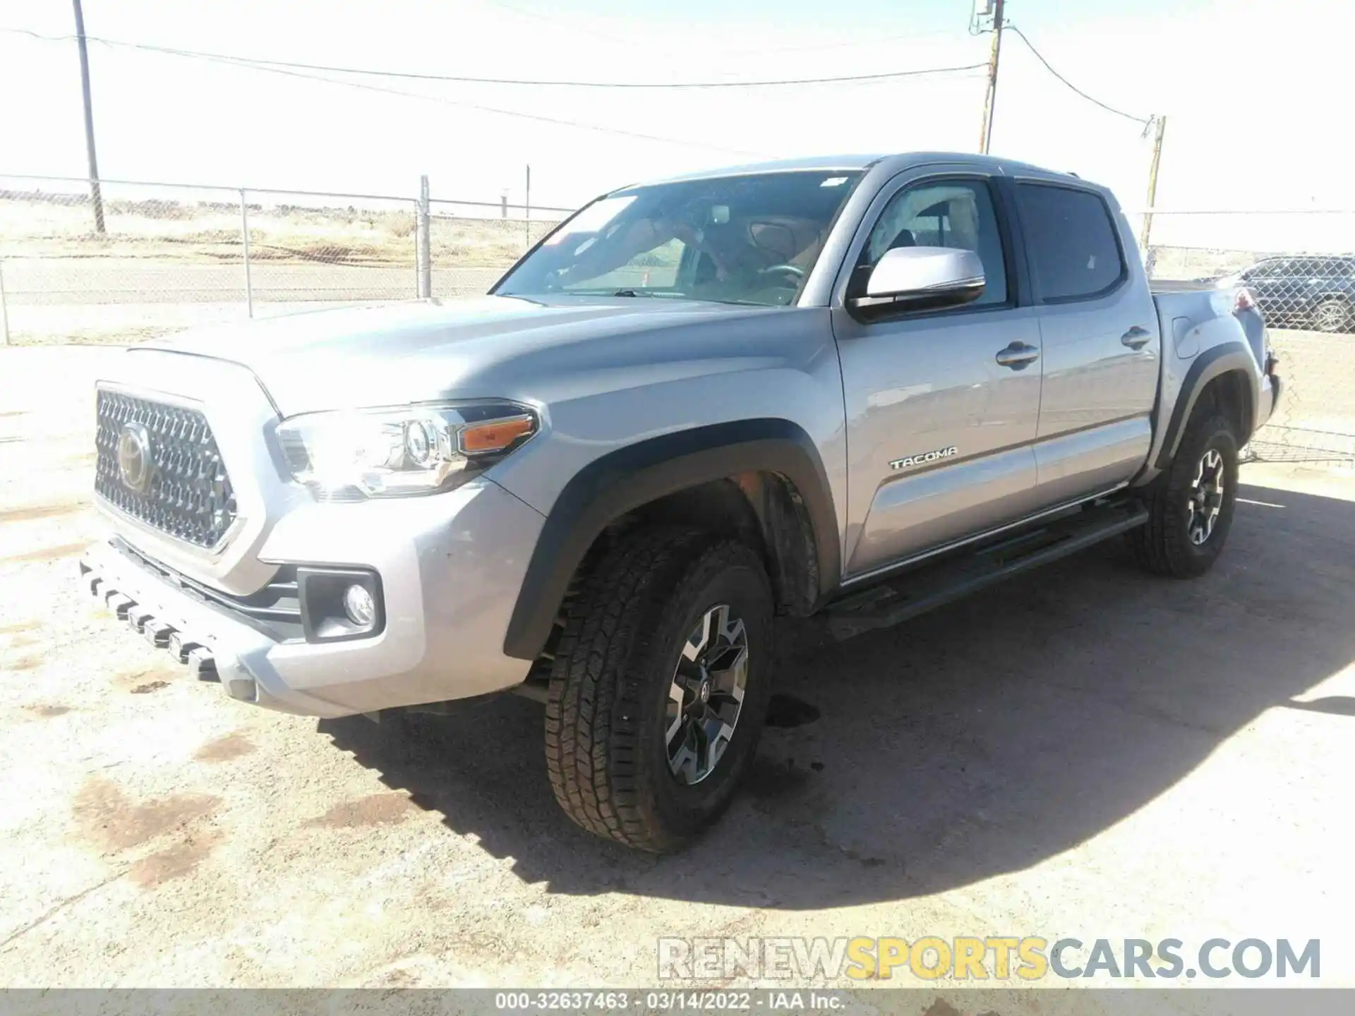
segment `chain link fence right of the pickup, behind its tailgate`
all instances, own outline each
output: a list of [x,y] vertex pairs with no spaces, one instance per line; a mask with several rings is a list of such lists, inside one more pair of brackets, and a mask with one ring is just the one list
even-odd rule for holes
[[1279,409],[1249,446],[1271,462],[1355,465],[1355,210],[1154,211],[1154,280],[1243,284],[1279,356]]

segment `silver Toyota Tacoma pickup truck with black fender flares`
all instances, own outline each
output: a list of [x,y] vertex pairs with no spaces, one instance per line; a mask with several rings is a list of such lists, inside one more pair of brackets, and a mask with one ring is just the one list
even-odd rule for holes
[[1104,188],[946,153],[625,187],[488,297],[119,359],[118,618],[291,713],[538,698],[560,805],[648,851],[748,769],[774,615],[848,637],[1121,534],[1202,574],[1279,397],[1248,290],[1154,294]]

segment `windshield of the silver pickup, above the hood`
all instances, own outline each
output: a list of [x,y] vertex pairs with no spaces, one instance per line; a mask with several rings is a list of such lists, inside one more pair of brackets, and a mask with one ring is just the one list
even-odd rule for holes
[[617,191],[561,225],[495,293],[785,306],[859,176],[772,172]]

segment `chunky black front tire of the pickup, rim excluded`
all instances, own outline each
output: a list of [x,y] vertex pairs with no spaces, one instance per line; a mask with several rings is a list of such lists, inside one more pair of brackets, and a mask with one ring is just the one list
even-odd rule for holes
[[[687,635],[720,603],[744,620],[748,681],[724,755],[684,786],[668,763],[664,710]],[[546,700],[546,771],[575,822],[665,853],[720,817],[766,719],[772,607],[759,555],[698,530],[641,530],[589,569],[565,610]]]

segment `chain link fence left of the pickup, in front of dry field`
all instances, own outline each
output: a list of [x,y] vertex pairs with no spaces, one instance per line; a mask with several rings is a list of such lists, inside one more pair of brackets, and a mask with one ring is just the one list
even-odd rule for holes
[[108,180],[100,190],[102,232],[88,182],[0,175],[0,340],[126,343],[306,309],[478,294],[568,211]]

